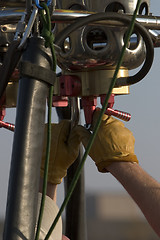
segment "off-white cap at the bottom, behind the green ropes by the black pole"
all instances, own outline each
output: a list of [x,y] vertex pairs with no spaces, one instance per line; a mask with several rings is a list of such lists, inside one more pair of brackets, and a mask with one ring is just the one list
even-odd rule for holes
[[[38,195],[38,216],[39,216],[39,208],[41,203],[42,194],[39,193]],[[50,229],[57,213],[58,213],[58,206],[56,203],[48,196],[46,196],[45,206],[44,206],[44,213],[42,218],[41,224],[41,231],[39,240],[44,240],[48,230]],[[37,216],[37,219],[38,219]],[[60,218],[58,223],[56,224],[49,240],[62,240],[62,219]]]

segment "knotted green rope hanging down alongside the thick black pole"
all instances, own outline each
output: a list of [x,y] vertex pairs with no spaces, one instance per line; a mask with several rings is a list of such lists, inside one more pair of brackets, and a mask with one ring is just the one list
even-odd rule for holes
[[[49,14],[49,9],[46,3],[41,3],[41,6],[44,10],[41,10],[41,18],[43,22],[43,29],[42,29],[42,36],[45,39],[45,47],[50,47],[51,54],[52,54],[52,69],[56,71],[56,56],[54,51],[54,36],[51,32],[51,19]],[[46,15],[44,15],[44,11]],[[47,180],[48,180],[48,167],[49,167],[49,156],[50,156],[50,148],[51,148],[51,115],[52,115],[52,97],[53,97],[53,86],[49,89],[49,99],[48,99],[48,124],[47,124],[47,146],[46,146],[46,160],[44,166],[44,177],[43,177],[43,189],[42,189],[42,199],[41,205],[39,210],[39,218],[37,222],[37,230],[35,235],[35,240],[39,239],[40,228],[42,223],[42,217],[44,212],[44,205],[45,205],[45,196],[47,192]]]

